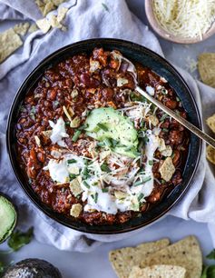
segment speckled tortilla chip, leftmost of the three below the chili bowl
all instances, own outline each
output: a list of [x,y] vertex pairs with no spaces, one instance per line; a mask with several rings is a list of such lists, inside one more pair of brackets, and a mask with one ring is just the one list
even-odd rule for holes
[[140,264],[145,256],[157,252],[169,244],[169,239],[161,239],[157,242],[142,243],[136,247],[113,250],[109,253],[109,260],[118,277],[128,278],[134,265]]

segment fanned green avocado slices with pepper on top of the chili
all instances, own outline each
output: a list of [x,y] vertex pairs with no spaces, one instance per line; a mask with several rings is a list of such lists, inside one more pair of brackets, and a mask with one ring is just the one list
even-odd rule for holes
[[89,114],[85,124],[87,125],[85,130],[88,136],[98,141],[105,141],[107,138],[112,139],[121,145],[118,148],[115,144],[112,151],[116,153],[120,151],[124,155],[133,157],[131,152],[127,153],[122,150],[125,146],[126,149],[131,148],[136,151],[138,145],[137,131],[128,117],[123,116],[111,107],[97,108]]

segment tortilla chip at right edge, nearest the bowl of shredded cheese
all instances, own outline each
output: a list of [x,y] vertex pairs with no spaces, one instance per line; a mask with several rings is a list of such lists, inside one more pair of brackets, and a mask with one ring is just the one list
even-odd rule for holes
[[203,83],[215,87],[215,53],[202,53],[198,57],[200,79]]

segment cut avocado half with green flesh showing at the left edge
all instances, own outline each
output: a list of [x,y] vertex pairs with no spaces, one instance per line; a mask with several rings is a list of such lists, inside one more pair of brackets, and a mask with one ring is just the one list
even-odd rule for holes
[[0,195],[0,243],[14,231],[17,213],[15,206],[5,196]]

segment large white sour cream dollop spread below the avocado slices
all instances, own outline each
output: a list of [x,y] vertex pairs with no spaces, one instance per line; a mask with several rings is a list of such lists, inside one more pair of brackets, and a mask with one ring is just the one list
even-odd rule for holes
[[[135,176],[140,169],[139,166],[132,168],[127,175],[127,181],[117,180],[117,177],[110,173],[103,173],[101,165],[98,160],[94,160],[88,165],[90,176],[87,178],[82,177],[80,184],[83,194],[82,200],[86,202],[84,205],[84,211],[91,212],[93,210],[101,211],[104,213],[115,214],[118,211],[125,212],[128,210],[139,210],[138,196],[142,195],[144,200],[145,197],[149,196],[153,190],[153,173],[152,167],[153,156],[157,148],[160,146],[161,140],[159,138],[160,129],[154,128],[152,131],[146,131],[148,142],[145,144],[145,155],[147,160],[144,164],[144,170],[139,174],[139,179],[142,184],[135,186],[133,181]],[[59,137],[58,137],[59,138]],[[70,162],[73,160],[73,163]],[[70,183],[70,174],[73,168],[78,169],[78,174],[82,176],[83,168],[86,167],[83,157],[75,154],[62,154],[58,158],[50,159],[49,163],[44,167],[44,170],[48,170],[51,178],[57,184]],[[105,177],[104,177],[105,176]],[[109,187],[106,187],[106,191],[103,191],[101,180],[109,181]],[[119,182],[119,183],[117,183]],[[123,182],[123,183],[122,183]],[[87,186],[86,186],[87,184]],[[112,184],[114,184],[114,190],[121,191],[123,185],[123,192],[126,196],[122,199],[116,198],[112,195]]]

